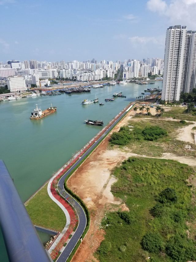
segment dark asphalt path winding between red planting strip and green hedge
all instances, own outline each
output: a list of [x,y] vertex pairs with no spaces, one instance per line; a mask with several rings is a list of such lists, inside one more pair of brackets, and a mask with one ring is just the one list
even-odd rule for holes
[[99,139],[75,162],[73,166],[70,167],[70,169],[59,179],[58,181],[58,191],[59,193],[65,197],[70,204],[74,207],[78,214],[78,226],[76,231],[74,232],[74,235],[71,237],[70,241],[66,244],[66,247],[58,257],[56,261],[58,262],[65,262],[68,257],[70,256],[72,250],[74,249],[75,245],[77,244],[77,241],[81,238],[82,233],[85,230],[86,227],[86,215],[85,211],[81,207],[81,205],[70,195],[65,191],[64,188],[64,181],[67,176],[69,176],[70,172],[74,170],[74,168],[91,152],[93,151],[96,146],[101,142],[101,140],[104,138],[105,135],[107,135],[113,127],[126,115],[128,111],[125,111],[119,118],[109,127],[103,135],[100,136]]

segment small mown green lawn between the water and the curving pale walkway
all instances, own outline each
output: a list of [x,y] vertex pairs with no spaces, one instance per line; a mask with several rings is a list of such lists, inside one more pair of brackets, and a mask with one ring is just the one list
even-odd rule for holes
[[62,231],[66,225],[65,214],[49,197],[47,185],[27,203],[26,209],[33,224],[57,231]]

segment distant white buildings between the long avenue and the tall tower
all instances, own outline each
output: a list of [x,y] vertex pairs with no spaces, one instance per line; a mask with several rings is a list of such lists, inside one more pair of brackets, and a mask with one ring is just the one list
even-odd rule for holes
[[150,75],[162,75],[164,69],[164,59],[152,58],[140,60],[125,60],[123,63],[123,79],[138,77],[148,77]]

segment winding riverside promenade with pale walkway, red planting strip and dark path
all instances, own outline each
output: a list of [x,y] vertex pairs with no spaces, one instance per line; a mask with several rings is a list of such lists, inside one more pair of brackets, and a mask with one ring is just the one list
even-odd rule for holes
[[58,257],[56,261],[66,261],[77,242],[81,239],[87,225],[87,217],[84,209],[75,198],[66,192],[64,188],[65,179],[68,178],[70,173],[73,173],[85,158],[92,153],[98,144],[110,133],[113,127],[119,123],[133,106],[134,104],[128,105],[123,111],[121,111],[103,130],[101,130],[85,147],[83,147],[80,152],[78,152],[71,162],[63,166],[55,176],[51,178],[48,184],[48,194],[50,197],[52,195],[52,200],[54,200],[54,198],[57,200],[55,200],[55,202],[59,207],[62,208],[63,206],[67,209],[69,213],[68,217],[70,217],[69,226],[66,223],[66,227],[49,249],[52,259]]

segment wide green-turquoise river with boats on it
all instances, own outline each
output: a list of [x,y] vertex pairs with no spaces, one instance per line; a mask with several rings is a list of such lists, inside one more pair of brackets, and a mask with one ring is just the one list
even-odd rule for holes
[[[0,102],[0,159],[3,159],[22,201],[30,197],[53,172],[80,150],[93,136],[146,88],[155,84],[105,86],[91,88],[89,93],[61,96],[39,96]],[[126,98],[116,97],[105,102],[114,92],[122,91]],[[146,93],[149,94],[149,93]],[[143,95],[144,96],[144,95]],[[81,105],[84,99],[99,98],[99,103]],[[35,104],[45,110],[52,105],[57,111],[40,120],[30,120]],[[103,127],[86,125],[85,119],[102,120]],[[45,239],[45,238],[44,238]],[[8,261],[0,233],[2,261]]]

